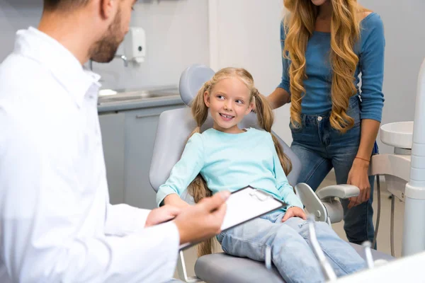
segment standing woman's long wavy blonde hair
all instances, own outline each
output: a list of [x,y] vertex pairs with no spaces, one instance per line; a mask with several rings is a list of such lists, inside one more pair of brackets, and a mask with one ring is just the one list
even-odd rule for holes
[[[332,69],[330,122],[331,127],[344,133],[354,124],[353,118],[346,114],[351,96],[357,93],[354,74],[358,56],[353,48],[360,39],[362,12],[368,10],[356,0],[329,1],[333,9],[329,54]],[[284,21],[286,38],[283,50],[283,57],[290,59],[290,117],[293,124],[300,124],[302,93],[305,93],[303,80],[307,78],[305,51],[314,32],[319,7],[311,0],[284,0],[283,4],[290,12]]]

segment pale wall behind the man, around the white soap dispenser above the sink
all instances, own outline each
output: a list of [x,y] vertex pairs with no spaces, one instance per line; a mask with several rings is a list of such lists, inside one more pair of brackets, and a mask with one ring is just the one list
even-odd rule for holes
[[[42,0],[0,0],[0,62],[13,50],[16,30],[37,26],[41,11]],[[146,31],[146,62],[94,64],[104,88],[177,85],[188,65],[209,62],[208,0],[139,0],[131,25]]]

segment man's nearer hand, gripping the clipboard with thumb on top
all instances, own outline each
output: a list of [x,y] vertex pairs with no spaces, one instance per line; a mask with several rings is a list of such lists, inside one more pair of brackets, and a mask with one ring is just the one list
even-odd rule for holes
[[221,232],[230,192],[218,192],[198,204],[186,207],[174,222],[180,233],[180,243],[203,241]]

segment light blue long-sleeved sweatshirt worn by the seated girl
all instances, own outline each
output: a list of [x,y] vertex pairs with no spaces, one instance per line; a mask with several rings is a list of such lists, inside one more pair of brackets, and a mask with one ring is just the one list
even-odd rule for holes
[[234,192],[250,185],[264,190],[289,207],[303,207],[280,166],[271,134],[250,128],[241,134],[208,129],[193,134],[181,159],[164,185],[159,187],[157,204],[167,195],[181,193],[200,173],[213,194]]

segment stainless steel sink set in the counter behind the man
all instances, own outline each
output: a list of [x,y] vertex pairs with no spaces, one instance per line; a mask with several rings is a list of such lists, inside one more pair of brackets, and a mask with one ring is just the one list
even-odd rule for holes
[[108,96],[99,96],[98,105],[106,103],[126,103],[135,100],[152,100],[166,98],[171,96],[179,96],[178,88],[160,88],[142,91],[120,90],[116,94]]

